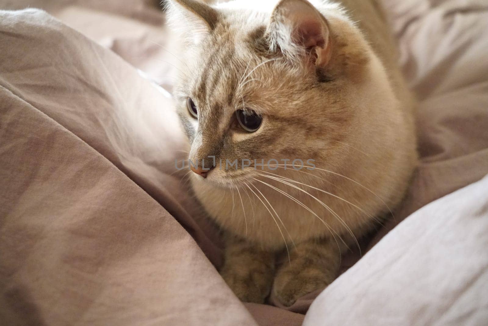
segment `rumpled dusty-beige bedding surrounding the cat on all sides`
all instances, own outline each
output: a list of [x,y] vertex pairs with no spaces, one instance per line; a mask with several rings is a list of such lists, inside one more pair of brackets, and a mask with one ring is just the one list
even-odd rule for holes
[[[139,14],[115,0],[23,2],[171,89],[171,38],[144,1]],[[364,241],[379,243],[305,323],[483,325],[487,178],[468,185],[488,173],[488,5],[386,6],[420,99],[422,162],[395,219]],[[302,323],[318,293],[289,311],[242,304],[212,266],[221,243],[174,173],[186,145],[163,89],[41,12],[1,12],[0,49],[1,325]]]

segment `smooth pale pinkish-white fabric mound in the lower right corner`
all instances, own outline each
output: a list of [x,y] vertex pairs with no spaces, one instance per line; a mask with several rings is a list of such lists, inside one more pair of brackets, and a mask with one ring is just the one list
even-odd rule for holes
[[486,325],[488,176],[421,208],[312,303],[304,326]]

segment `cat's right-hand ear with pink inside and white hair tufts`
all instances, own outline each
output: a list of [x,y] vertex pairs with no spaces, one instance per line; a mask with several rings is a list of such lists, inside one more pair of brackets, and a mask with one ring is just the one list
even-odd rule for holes
[[290,60],[303,60],[325,67],[331,42],[325,17],[307,0],[281,0],[274,8],[266,37],[272,51]]

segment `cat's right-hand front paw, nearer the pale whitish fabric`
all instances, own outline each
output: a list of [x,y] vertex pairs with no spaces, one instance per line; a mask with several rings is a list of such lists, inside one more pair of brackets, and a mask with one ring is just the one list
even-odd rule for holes
[[289,307],[300,297],[324,289],[332,281],[334,277],[331,277],[330,273],[313,266],[305,267],[300,271],[284,266],[276,275],[273,292],[279,302]]

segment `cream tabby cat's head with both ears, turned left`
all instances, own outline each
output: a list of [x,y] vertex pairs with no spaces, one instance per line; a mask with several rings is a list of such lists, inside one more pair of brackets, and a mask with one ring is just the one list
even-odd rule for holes
[[[342,164],[340,144],[360,124],[370,50],[339,7],[323,10],[306,0],[269,11],[170,1],[183,43],[174,95],[189,159],[210,168],[215,156],[217,165],[206,180],[194,177],[229,185],[257,173],[256,161]],[[236,159],[237,170],[226,165]]]

